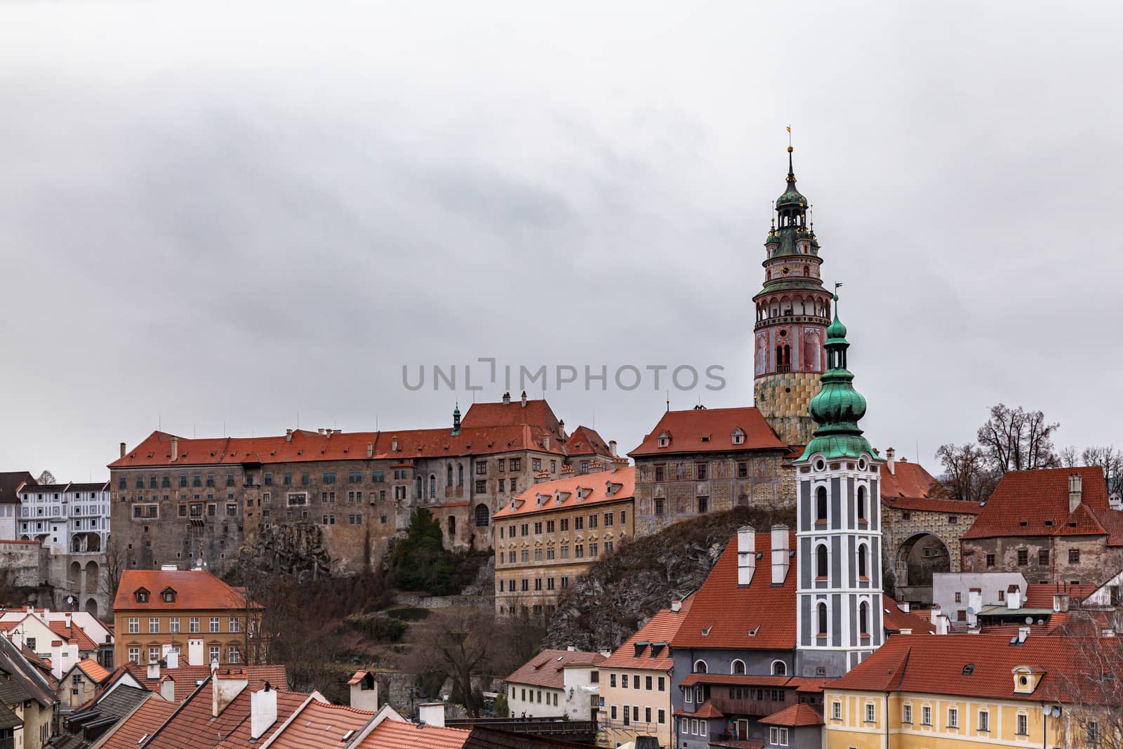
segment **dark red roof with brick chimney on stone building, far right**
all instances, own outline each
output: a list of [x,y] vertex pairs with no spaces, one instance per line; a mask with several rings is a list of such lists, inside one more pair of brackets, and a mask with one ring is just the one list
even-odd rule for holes
[[[1070,513],[1068,477],[1074,473],[1080,475],[1085,508],[1077,506]],[[1005,474],[964,538],[1063,536],[1072,531],[1107,535],[1108,546],[1123,546],[1123,512],[1107,509],[1107,486],[1098,466]]]

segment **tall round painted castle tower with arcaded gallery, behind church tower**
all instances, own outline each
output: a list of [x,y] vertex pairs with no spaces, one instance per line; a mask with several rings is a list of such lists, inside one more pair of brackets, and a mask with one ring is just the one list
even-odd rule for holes
[[774,223],[765,238],[765,285],[752,298],[757,305],[754,399],[782,440],[806,445],[814,433],[807,409],[825,364],[831,295],[819,272],[823,261],[814,222],[807,223],[807,199],[795,189],[791,146],[787,188],[776,201],[776,212],[779,225]]

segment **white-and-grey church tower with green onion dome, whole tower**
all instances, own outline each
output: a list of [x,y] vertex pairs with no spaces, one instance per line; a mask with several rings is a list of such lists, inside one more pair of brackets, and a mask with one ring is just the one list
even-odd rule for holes
[[882,459],[861,436],[866,399],[846,368],[846,326],[827,328],[827,372],[811,400],[819,424],[793,463],[798,477],[796,675],[841,676],[885,641]]

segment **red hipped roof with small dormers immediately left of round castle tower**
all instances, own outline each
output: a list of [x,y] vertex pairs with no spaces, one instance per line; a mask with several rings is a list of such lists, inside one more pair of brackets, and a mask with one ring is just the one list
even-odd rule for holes
[[[745,432],[745,441],[733,445],[733,430]],[[659,435],[668,433],[670,442],[659,447]],[[755,408],[691,409],[667,411],[643,438],[632,457],[674,453],[747,453],[750,450],[787,450],[760,411]]]

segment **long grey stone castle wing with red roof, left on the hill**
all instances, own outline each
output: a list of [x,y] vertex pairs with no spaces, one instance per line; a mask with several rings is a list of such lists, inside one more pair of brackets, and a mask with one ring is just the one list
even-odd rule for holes
[[[186,439],[161,431],[109,465],[113,540],[129,568],[221,573],[244,545],[312,550],[331,572],[377,565],[426,508],[450,548],[489,549],[491,517],[544,474],[615,465],[613,442],[567,435],[545,400],[474,403],[451,429],[287,430]],[[305,555],[307,556],[307,555]]]

